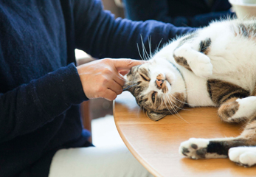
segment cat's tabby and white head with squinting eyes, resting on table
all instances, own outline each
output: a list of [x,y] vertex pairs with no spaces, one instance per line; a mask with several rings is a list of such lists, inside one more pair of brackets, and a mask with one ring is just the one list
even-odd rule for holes
[[134,66],[126,75],[125,90],[153,120],[176,114],[186,102],[186,88],[179,69],[166,58],[153,58]]

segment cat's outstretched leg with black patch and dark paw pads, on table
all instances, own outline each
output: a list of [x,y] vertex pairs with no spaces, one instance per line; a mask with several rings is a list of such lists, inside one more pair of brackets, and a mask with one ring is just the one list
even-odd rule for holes
[[192,138],[181,143],[179,153],[191,159],[226,158],[231,147],[255,145],[256,114],[253,114],[240,136],[223,139]]

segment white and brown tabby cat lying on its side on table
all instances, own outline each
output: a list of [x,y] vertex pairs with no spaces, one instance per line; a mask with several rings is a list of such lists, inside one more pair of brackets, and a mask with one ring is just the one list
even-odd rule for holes
[[191,159],[226,158],[256,164],[256,20],[213,21],[176,38],[134,66],[125,89],[147,116],[159,120],[184,105],[218,107],[224,122],[247,122],[240,136],[182,142]]

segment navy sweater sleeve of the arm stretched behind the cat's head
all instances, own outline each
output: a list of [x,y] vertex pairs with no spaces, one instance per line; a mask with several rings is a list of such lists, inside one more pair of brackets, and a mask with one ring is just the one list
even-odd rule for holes
[[114,18],[102,10],[101,1],[76,0],[74,4],[76,46],[94,58],[135,58],[139,59],[137,44],[149,49],[151,38],[153,52],[160,41],[165,44],[176,35],[194,29],[175,27],[159,21],[131,21]]

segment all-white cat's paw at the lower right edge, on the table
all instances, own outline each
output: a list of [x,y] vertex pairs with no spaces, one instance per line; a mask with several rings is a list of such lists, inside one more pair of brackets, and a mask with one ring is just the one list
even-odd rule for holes
[[243,167],[252,167],[256,164],[256,147],[232,147],[229,159]]

